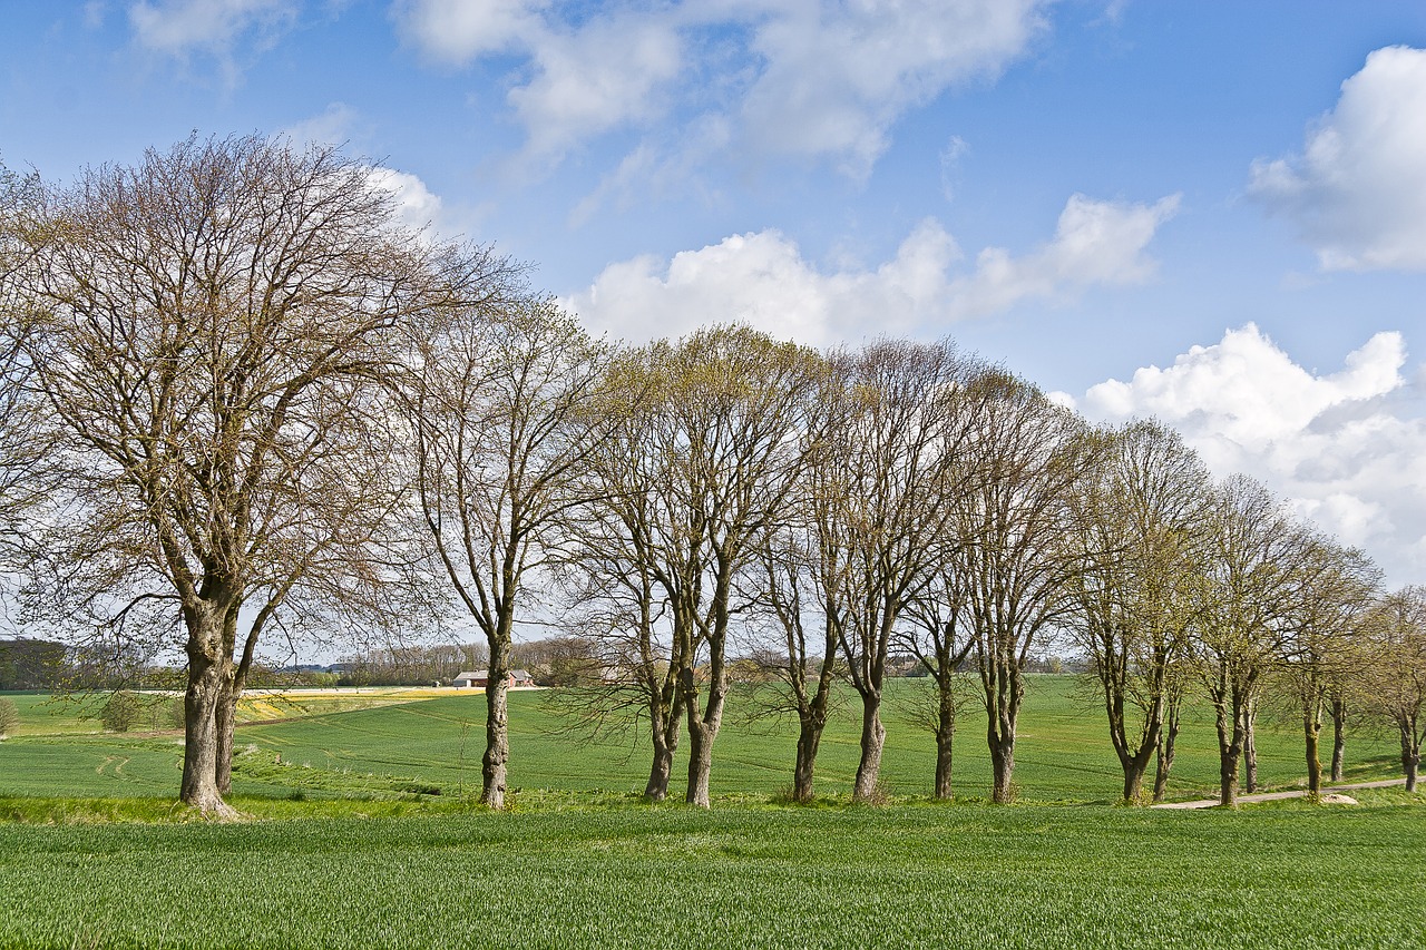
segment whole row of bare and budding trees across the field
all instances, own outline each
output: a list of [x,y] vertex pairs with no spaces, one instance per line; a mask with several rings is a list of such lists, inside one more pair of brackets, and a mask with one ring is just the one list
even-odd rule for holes
[[1269,675],[1299,678],[1313,739],[1342,670],[1423,636],[1386,623],[1359,552],[1214,484],[1162,427],[1095,429],[945,341],[592,339],[492,248],[402,227],[332,150],[194,137],[68,187],[7,174],[0,203],[7,569],[31,622],[181,645],[201,809],[227,810],[260,640],[432,626],[452,601],[488,650],[493,807],[520,626],[578,630],[592,708],[643,715],[647,795],[686,739],[702,806],[739,638],[797,715],[799,797],[841,679],[853,795],[876,796],[888,658],[911,650],[940,686],[937,792],[968,663],[1010,800],[1027,663],[1072,632],[1125,796],[1151,756],[1166,779],[1198,683],[1231,802]]

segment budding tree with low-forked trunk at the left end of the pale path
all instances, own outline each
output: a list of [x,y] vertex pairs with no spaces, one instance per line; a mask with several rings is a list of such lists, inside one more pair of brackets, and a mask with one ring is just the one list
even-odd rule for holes
[[1149,760],[1159,759],[1164,785],[1172,767],[1211,481],[1158,422],[1104,438],[1102,464],[1071,496],[1084,569],[1068,576],[1067,626],[1092,663],[1124,800],[1138,803]]

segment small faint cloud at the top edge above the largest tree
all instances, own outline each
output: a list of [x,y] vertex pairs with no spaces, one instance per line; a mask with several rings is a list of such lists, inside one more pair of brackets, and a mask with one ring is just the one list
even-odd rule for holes
[[288,26],[299,7],[299,0],[141,0],[128,7],[128,21],[151,50],[222,54],[248,31],[267,36]]

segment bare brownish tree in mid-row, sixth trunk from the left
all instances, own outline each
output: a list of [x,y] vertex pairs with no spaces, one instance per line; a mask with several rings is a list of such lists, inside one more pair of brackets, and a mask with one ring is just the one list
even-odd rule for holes
[[967,478],[961,451],[995,374],[950,341],[880,341],[836,354],[846,422],[814,494],[817,599],[861,699],[853,800],[877,797],[887,653],[945,553]]

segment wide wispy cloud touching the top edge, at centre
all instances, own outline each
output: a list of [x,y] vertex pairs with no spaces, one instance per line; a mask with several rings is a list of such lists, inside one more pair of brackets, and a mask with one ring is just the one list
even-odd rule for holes
[[519,56],[509,104],[548,164],[677,106],[692,123],[734,127],[740,151],[831,157],[866,174],[908,108],[1022,56],[1048,3],[404,0],[394,16],[442,64]]

